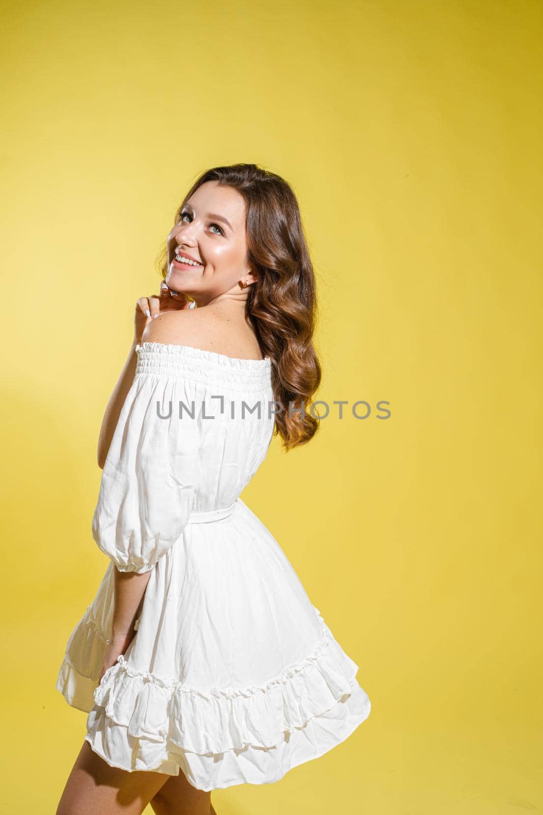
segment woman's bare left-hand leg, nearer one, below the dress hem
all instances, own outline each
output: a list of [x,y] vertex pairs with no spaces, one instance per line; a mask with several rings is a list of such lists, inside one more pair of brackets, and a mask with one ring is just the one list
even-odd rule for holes
[[128,773],[110,767],[85,741],[56,815],[141,815],[169,778],[172,777],[151,770]]

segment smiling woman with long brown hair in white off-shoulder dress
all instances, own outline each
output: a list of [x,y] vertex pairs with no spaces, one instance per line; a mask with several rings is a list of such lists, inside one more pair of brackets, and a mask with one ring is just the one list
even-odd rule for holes
[[278,781],[370,714],[357,664],[239,498],[274,434],[289,450],[318,426],[291,187],[256,165],[204,173],[161,271],[99,436],[92,530],[110,563],[59,669],[89,715],[57,815],[208,815],[212,790]]

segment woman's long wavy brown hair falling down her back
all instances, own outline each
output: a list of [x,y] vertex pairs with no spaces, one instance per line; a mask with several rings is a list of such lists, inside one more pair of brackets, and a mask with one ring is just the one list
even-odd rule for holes
[[[321,382],[321,365],[313,347],[315,274],[298,201],[284,178],[256,164],[213,167],[186,193],[174,225],[186,201],[206,181],[234,187],[245,200],[248,259],[257,275],[247,292],[246,317],[262,354],[272,363],[274,399],[281,403],[274,435],[281,435],[288,451],[309,442],[318,430],[318,415],[313,416],[310,407]],[[166,244],[157,264],[165,280]],[[304,416],[299,412],[302,408]]]

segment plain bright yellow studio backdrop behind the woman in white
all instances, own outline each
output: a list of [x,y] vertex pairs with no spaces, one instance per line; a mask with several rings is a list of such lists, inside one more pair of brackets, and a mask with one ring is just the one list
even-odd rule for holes
[[[200,171],[291,182],[319,398],[243,499],[359,665],[370,718],[219,815],[499,815],[541,790],[541,2],[2,7],[2,808],[53,813],[55,679],[134,302]],[[334,408],[333,405],[331,405]],[[146,810],[150,813],[151,809]]]

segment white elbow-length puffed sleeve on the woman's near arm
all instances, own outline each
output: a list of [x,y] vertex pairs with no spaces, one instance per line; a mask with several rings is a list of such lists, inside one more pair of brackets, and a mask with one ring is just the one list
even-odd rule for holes
[[151,571],[192,510],[199,452],[190,382],[141,374],[127,394],[103,466],[92,534],[120,571]]

